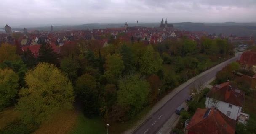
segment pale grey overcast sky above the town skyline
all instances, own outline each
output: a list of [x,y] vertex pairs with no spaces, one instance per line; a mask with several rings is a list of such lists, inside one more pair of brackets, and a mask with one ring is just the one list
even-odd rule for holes
[[256,22],[256,0],[0,0],[0,26]]

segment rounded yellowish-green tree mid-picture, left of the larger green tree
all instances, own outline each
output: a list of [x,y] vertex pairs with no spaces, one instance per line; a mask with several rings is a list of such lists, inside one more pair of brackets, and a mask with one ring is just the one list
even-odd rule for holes
[[115,82],[122,74],[125,66],[120,54],[112,54],[107,56],[105,64],[105,75],[109,82]]

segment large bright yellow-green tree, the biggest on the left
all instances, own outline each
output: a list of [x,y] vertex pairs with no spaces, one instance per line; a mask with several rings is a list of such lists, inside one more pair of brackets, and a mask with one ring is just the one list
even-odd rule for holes
[[26,73],[25,81],[27,88],[20,90],[16,105],[25,124],[40,124],[53,113],[72,108],[72,83],[53,64],[38,64],[34,70]]

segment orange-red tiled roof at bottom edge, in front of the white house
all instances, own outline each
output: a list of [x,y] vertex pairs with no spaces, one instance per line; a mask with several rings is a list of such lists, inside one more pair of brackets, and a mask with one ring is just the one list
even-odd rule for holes
[[187,126],[189,134],[235,134],[236,121],[218,109],[197,108]]

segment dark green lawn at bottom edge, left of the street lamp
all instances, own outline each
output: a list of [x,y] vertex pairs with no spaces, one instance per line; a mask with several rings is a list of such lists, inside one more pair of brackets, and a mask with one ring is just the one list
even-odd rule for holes
[[69,134],[106,134],[107,128],[104,121],[101,118],[86,118],[83,113],[80,113],[77,117],[75,127],[69,132]]

